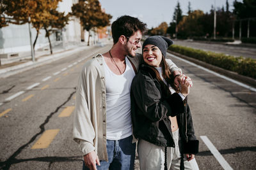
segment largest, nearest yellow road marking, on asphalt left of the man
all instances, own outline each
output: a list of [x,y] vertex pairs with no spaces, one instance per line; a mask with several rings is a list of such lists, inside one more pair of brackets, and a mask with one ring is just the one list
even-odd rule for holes
[[59,131],[60,129],[51,129],[45,131],[31,149],[48,148]]

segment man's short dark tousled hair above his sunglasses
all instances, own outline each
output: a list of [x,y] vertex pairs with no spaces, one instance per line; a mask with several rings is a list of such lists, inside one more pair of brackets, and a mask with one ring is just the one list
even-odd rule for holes
[[135,32],[140,31],[141,34],[146,31],[147,24],[141,22],[138,18],[128,15],[118,17],[111,25],[111,32],[114,44],[118,42],[118,38],[132,36]]

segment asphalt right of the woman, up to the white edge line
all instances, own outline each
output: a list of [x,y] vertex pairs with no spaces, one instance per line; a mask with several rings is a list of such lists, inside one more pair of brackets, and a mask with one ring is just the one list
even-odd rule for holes
[[200,152],[200,169],[222,169],[200,136],[207,136],[233,169],[256,167],[256,92],[173,59],[193,80],[189,106]]

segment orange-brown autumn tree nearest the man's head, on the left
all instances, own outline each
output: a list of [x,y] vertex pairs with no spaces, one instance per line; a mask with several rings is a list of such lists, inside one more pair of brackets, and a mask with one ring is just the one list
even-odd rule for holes
[[98,0],[81,0],[77,4],[73,4],[72,13],[80,18],[83,29],[89,32],[88,46],[90,45],[90,30],[93,27],[106,27],[110,24],[111,15],[102,11]]

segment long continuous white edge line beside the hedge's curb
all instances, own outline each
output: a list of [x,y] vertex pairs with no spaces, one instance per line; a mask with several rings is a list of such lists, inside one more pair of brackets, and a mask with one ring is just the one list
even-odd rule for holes
[[241,83],[241,82],[239,82],[239,81],[233,80],[232,78],[228,78],[227,76],[223,76],[223,75],[221,75],[221,74],[219,74],[219,73],[216,73],[216,72],[214,72],[214,71],[211,71],[211,70],[209,70],[209,69],[206,69],[205,67],[198,66],[197,64],[195,64],[195,63],[193,63],[193,62],[190,62],[190,61],[188,61],[188,60],[180,59],[179,57],[176,57],[176,56],[173,55],[172,53],[169,53],[169,54],[170,54],[172,57],[174,57],[175,59],[182,60],[182,61],[184,61],[184,62],[186,62],[186,63],[188,63],[188,64],[191,64],[192,66],[198,67],[198,68],[200,68],[200,69],[204,69],[204,71],[207,71],[207,72],[209,72],[209,73],[212,73],[212,74],[214,74],[214,75],[216,75],[216,76],[219,76],[219,77],[221,77],[221,78],[223,78],[223,79],[225,79],[225,80],[228,80],[228,81],[231,81],[232,83],[235,83],[235,84],[237,84],[237,85],[240,85],[241,87],[244,87],[244,88],[246,88],[246,89],[252,90],[253,92],[256,92],[256,89],[255,89],[255,88],[250,87],[250,86],[248,86],[248,85],[246,85],[246,84],[244,84],[244,83]]

